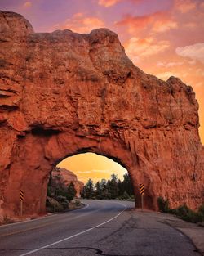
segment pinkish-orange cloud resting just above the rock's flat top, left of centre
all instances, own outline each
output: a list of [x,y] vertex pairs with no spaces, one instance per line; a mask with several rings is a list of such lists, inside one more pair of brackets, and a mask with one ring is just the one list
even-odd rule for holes
[[90,33],[93,29],[104,27],[104,21],[97,17],[86,17],[83,13],[78,12],[70,19],[64,21],[63,24],[57,24],[51,28],[55,29],[70,29],[78,33]]

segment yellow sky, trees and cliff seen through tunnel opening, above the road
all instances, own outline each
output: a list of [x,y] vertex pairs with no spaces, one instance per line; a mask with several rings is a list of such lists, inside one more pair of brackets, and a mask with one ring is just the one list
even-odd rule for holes
[[81,150],[56,164],[49,175],[48,212],[76,209],[83,199],[135,202],[130,173],[114,157]]

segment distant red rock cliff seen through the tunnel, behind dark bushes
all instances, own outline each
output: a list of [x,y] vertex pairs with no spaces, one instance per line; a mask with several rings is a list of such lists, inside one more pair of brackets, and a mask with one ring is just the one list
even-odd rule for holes
[[74,188],[77,191],[76,196],[81,197],[82,189],[83,189],[83,182],[78,181],[77,175],[73,172],[67,170],[66,168],[54,168],[51,172],[51,176],[55,177],[56,175],[61,175],[64,183],[68,186],[70,182],[73,182]]

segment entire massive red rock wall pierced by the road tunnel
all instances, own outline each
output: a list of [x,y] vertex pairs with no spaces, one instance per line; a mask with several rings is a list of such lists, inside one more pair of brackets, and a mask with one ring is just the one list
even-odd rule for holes
[[0,215],[45,210],[47,181],[61,159],[108,156],[131,175],[136,205],[159,195],[171,207],[203,202],[204,150],[193,89],[145,74],[109,29],[34,33],[0,12]]

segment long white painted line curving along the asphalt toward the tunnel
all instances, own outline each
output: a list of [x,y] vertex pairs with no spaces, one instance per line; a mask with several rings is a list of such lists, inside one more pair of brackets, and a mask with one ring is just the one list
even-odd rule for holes
[[[120,203],[120,204],[121,204],[121,203]],[[125,204],[122,204],[122,205],[124,206],[124,209],[122,210],[122,212],[118,213],[118,215],[114,216],[113,218],[110,218],[110,219],[109,219],[108,221],[106,221],[106,222],[100,223],[99,225],[97,225],[97,226],[95,226],[95,227],[91,227],[91,228],[89,228],[89,229],[86,229],[85,231],[79,232],[78,234],[75,234],[75,235],[73,235],[73,236],[69,236],[69,237],[66,237],[66,238],[64,238],[64,239],[62,239],[62,240],[56,241],[55,243],[52,243],[52,244],[50,244],[50,245],[45,245],[45,246],[40,247],[39,249],[33,249],[33,250],[29,251],[28,253],[20,254],[19,256],[25,256],[25,255],[29,255],[29,254],[36,253],[36,252],[38,252],[38,251],[41,250],[41,249],[46,249],[47,247],[51,247],[52,245],[60,244],[61,242],[64,242],[65,240],[69,240],[69,239],[71,239],[71,238],[73,238],[73,237],[80,236],[80,235],[82,235],[82,234],[84,234],[84,233],[86,233],[86,232],[88,232],[88,231],[91,231],[91,230],[93,230],[93,229],[95,229],[95,228],[97,228],[97,227],[101,227],[101,226],[103,226],[104,224],[113,221],[114,218],[118,218],[118,216],[120,216],[120,215],[126,210],[126,205],[125,205]]]

